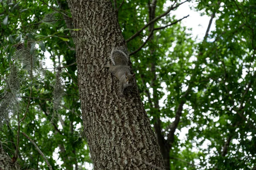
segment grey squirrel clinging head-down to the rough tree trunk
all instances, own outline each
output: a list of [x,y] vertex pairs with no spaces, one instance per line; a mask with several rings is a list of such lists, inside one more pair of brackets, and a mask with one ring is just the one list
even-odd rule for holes
[[135,73],[131,74],[129,66],[129,53],[125,47],[115,47],[110,54],[112,65],[107,65],[109,71],[119,79],[121,95],[124,89],[135,86]]

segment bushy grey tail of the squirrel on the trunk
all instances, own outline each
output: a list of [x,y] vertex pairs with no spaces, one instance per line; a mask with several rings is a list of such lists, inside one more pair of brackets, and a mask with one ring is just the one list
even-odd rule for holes
[[113,65],[129,65],[129,52],[125,47],[115,47],[111,52]]

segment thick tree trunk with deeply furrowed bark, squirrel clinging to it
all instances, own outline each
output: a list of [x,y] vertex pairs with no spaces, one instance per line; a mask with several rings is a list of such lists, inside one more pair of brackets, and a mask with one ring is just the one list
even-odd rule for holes
[[125,45],[110,0],[69,0],[84,133],[95,170],[164,169],[156,136],[137,85],[120,95],[105,65],[111,49]]

